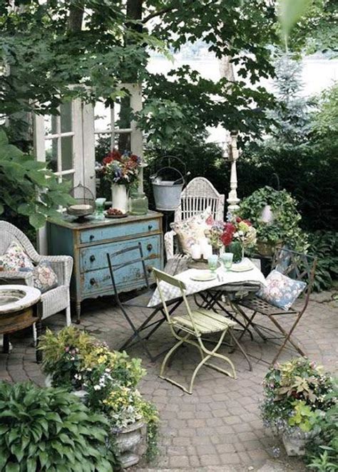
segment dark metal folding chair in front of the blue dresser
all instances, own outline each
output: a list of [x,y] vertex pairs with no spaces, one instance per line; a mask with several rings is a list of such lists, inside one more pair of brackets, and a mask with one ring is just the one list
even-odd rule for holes
[[[135,257],[135,251],[138,254]],[[126,260],[123,258],[123,254],[130,255],[130,258]],[[134,257],[132,257],[134,254]],[[141,243],[138,243],[135,246],[131,246],[126,249],[122,249],[121,251],[116,251],[114,253],[107,253],[108,258],[108,267],[111,273],[111,281],[113,283],[113,290],[114,296],[116,299],[116,303],[118,307],[121,309],[123,315],[125,316],[126,320],[128,321],[131,329],[133,330],[133,335],[131,335],[126,342],[119,348],[119,350],[125,350],[127,347],[131,347],[136,343],[140,342],[143,349],[145,350],[146,354],[148,355],[151,362],[154,362],[163,352],[153,356],[148,349],[147,341],[149,340],[150,336],[162,325],[165,321],[165,312],[163,310],[162,303],[155,305],[153,307],[148,307],[148,302],[152,297],[155,289],[150,288],[149,278],[147,273],[147,268],[145,267],[145,258],[143,256],[142,246]],[[119,261],[120,260],[120,261]],[[126,268],[126,266],[135,265],[136,270],[138,270],[139,276],[143,277],[145,290],[142,293],[139,293],[136,297],[131,298],[130,300],[122,301],[119,295],[118,290],[118,272],[121,269]],[[170,305],[173,305],[170,308],[170,314],[180,305],[181,300],[170,300]],[[142,324],[139,327],[136,327],[135,322],[133,321],[133,315],[130,313],[130,309],[133,308],[141,308],[143,310],[148,310],[150,312],[149,316],[145,318]],[[129,312],[129,313],[128,313]],[[160,314],[160,319],[154,320],[156,315]],[[150,329],[151,328],[151,329]],[[145,330],[149,330],[145,337],[141,336],[141,333]],[[165,352],[165,351],[164,351]]]

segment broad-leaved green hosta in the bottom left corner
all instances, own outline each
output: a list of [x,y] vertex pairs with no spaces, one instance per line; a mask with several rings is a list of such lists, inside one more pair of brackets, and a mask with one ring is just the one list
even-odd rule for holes
[[108,421],[63,389],[0,383],[0,470],[108,472]]

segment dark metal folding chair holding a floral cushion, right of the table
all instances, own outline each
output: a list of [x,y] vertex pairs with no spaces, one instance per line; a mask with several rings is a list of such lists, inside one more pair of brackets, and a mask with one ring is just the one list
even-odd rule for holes
[[[272,261],[272,270],[276,269],[277,271],[283,273],[285,276],[293,278],[294,280],[303,280],[307,283],[307,287],[304,291],[304,303],[300,310],[297,310],[293,307],[291,307],[287,311],[281,310],[280,308],[275,307],[275,305],[272,305],[271,303],[262,300],[262,298],[257,297],[257,295],[253,297],[243,298],[242,300],[238,300],[235,303],[237,311],[239,311],[242,314],[243,318],[245,318],[245,320],[247,321],[245,330],[242,332],[240,338],[242,337],[242,335],[245,334],[247,330],[250,329],[250,327],[253,327],[257,334],[260,335],[263,340],[282,340],[280,349],[277,351],[277,354],[272,360],[271,365],[275,364],[278,357],[280,357],[282,350],[286,347],[287,343],[292,345],[292,347],[294,347],[294,349],[297,350],[300,355],[304,356],[304,352],[292,339],[291,335],[295,331],[295,328],[299,323],[299,320],[302,318],[304,311],[307,309],[307,305],[309,303],[309,295],[312,290],[316,264],[317,258],[314,258],[313,256],[309,256],[304,253],[291,251],[290,249],[286,248],[277,248],[275,257]],[[253,313],[248,316],[247,313],[245,313],[245,311],[241,309],[241,307],[249,308],[250,310],[252,310]],[[258,313],[260,313],[260,315],[264,315],[265,317],[269,318],[269,320],[271,320],[275,327],[277,327],[278,336],[267,337],[262,332],[262,330],[274,333],[276,333],[276,330],[271,330],[268,327],[257,325],[253,322]],[[277,320],[278,317],[282,315],[292,315],[293,317],[295,317],[295,321],[292,323],[290,330],[286,330],[280,323],[280,320]],[[280,333],[282,334],[282,336],[280,336]]]

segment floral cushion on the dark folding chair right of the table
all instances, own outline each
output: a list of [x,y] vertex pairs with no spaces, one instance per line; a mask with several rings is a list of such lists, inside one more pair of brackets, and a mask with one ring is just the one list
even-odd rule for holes
[[307,286],[302,280],[293,280],[276,270],[271,271],[265,281],[265,287],[257,296],[282,310],[289,310]]

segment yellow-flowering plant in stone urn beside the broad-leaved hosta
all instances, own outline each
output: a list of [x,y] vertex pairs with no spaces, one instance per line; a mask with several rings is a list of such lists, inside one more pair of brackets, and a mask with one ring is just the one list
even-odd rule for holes
[[135,389],[146,373],[140,359],[111,351],[76,327],[47,330],[40,349],[51,384],[81,392],[87,407],[106,416],[124,468],[138,463],[145,450],[148,458],[155,455],[158,414]]

